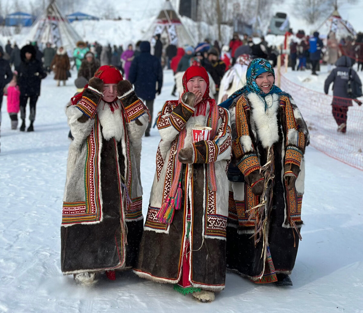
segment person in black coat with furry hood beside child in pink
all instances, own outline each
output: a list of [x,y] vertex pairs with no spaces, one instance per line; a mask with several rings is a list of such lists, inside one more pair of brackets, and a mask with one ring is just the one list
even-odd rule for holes
[[20,88],[20,117],[22,124],[20,131],[25,131],[25,107],[29,100],[30,125],[27,131],[34,131],[35,107],[40,95],[40,83],[46,77],[42,63],[36,59],[36,49],[32,45],[25,45],[20,50],[21,64],[19,66],[18,85]]

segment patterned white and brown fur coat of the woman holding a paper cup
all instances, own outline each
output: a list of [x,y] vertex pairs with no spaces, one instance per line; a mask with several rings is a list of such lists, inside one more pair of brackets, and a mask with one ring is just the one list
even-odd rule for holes
[[[138,276],[157,282],[176,283],[181,277],[183,249],[187,239],[187,212],[191,212],[188,233],[191,256],[189,282],[193,287],[221,290],[225,283],[225,229],[228,215],[228,179],[226,168],[231,158],[231,135],[228,112],[217,107],[216,137],[205,141],[203,149],[192,143],[192,127],[206,126],[205,116],[192,116],[194,108],[183,102],[168,101],[157,120],[162,137],[156,154],[156,173],[150,205],[140,245]],[[183,164],[181,171],[181,209],[175,211],[170,225],[159,222],[156,214],[171,188],[179,132],[187,128],[184,148],[192,145],[205,162]],[[200,142],[201,143],[201,142]],[[208,189],[206,164],[215,167],[217,190]]]

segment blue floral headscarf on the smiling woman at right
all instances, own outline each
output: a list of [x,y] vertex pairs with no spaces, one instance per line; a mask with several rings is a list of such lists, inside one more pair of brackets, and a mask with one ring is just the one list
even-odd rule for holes
[[219,104],[221,107],[229,108],[231,106],[233,99],[237,98],[239,95],[243,94],[245,91],[247,92],[254,92],[255,94],[258,94],[265,98],[266,95],[270,94],[279,94],[279,95],[288,95],[286,92],[283,92],[280,88],[275,86],[275,81],[272,85],[272,88],[270,91],[265,94],[261,90],[260,87],[258,87],[256,83],[256,77],[264,72],[270,72],[275,77],[275,71],[273,70],[270,62],[268,60],[257,58],[254,59],[250,65],[248,66],[247,72],[246,72],[246,86],[242,87],[241,89],[234,92],[227,100]]

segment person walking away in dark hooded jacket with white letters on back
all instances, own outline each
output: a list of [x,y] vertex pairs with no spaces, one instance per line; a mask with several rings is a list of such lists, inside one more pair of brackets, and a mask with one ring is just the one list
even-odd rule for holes
[[[347,131],[347,114],[348,108],[352,106],[352,99],[348,95],[348,80],[356,82],[362,87],[362,82],[359,79],[358,74],[351,66],[351,59],[342,55],[335,63],[337,66],[331,71],[330,75],[325,80],[324,92],[328,94],[329,86],[333,83],[333,102],[331,103],[333,117],[338,124],[338,131],[345,133]],[[362,102],[358,102],[362,105]]]

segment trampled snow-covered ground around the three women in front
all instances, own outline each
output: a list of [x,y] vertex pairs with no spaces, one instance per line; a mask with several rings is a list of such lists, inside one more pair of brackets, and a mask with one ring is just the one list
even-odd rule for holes
[[[72,81],[76,72],[72,72]],[[170,96],[164,71],[155,115]],[[363,172],[314,148],[306,150],[303,240],[292,287],[255,285],[228,273],[216,300],[202,304],[172,285],[131,272],[102,279],[93,289],[74,285],[60,269],[60,223],[69,139],[64,107],[73,82],[42,82],[34,132],[10,129],[6,98],[0,153],[0,312],[363,312]],[[27,123],[29,123],[27,121]],[[144,215],[155,171],[158,131],[143,138]]]

